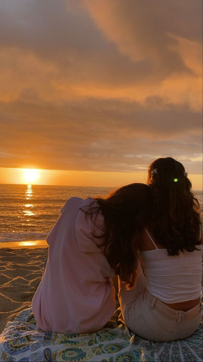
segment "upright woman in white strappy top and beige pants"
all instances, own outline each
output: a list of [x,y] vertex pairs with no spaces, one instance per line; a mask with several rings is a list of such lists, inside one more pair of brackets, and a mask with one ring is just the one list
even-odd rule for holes
[[173,341],[190,336],[201,320],[199,203],[183,165],[171,157],[152,162],[148,185],[152,218],[137,238],[142,268],[136,283],[119,280],[120,306],[125,323],[138,336]]

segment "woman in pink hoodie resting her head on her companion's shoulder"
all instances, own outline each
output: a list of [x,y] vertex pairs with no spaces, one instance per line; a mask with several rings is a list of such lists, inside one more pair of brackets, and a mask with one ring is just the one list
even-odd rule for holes
[[144,184],[124,186],[106,199],[66,201],[47,237],[47,265],[32,301],[42,331],[85,333],[104,327],[116,307],[113,275],[134,283],[134,240],[150,209],[151,193]]

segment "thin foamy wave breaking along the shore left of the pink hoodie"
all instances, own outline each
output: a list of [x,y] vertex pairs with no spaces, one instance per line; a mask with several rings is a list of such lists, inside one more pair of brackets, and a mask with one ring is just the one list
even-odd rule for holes
[[44,240],[48,232],[1,232],[0,243],[3,241],[21,241],[21,240]]

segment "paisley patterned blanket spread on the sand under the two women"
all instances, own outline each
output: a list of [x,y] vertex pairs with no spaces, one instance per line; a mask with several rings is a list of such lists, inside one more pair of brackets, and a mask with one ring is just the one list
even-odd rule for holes
[[42,332],[31,308],[9,322],[0,335],[0,361],[202,361],[202,324],[184,340],[151,342],[131,333],[120,308],[95,333]]

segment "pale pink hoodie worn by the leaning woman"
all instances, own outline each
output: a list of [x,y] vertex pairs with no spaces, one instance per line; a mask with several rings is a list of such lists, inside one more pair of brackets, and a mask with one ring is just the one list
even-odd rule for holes
[[[49,244],[46,271],[35,292],[32,310],[45,332],[85,333],[104,327],[115,307],[114,275],[103,249],[104,217],[100,211],[86,215],[88,205],[98,203],[87,198],[71,197],[61,209],[61,215],[47,236]],[[91,207],[92,207],[91,206]]]

